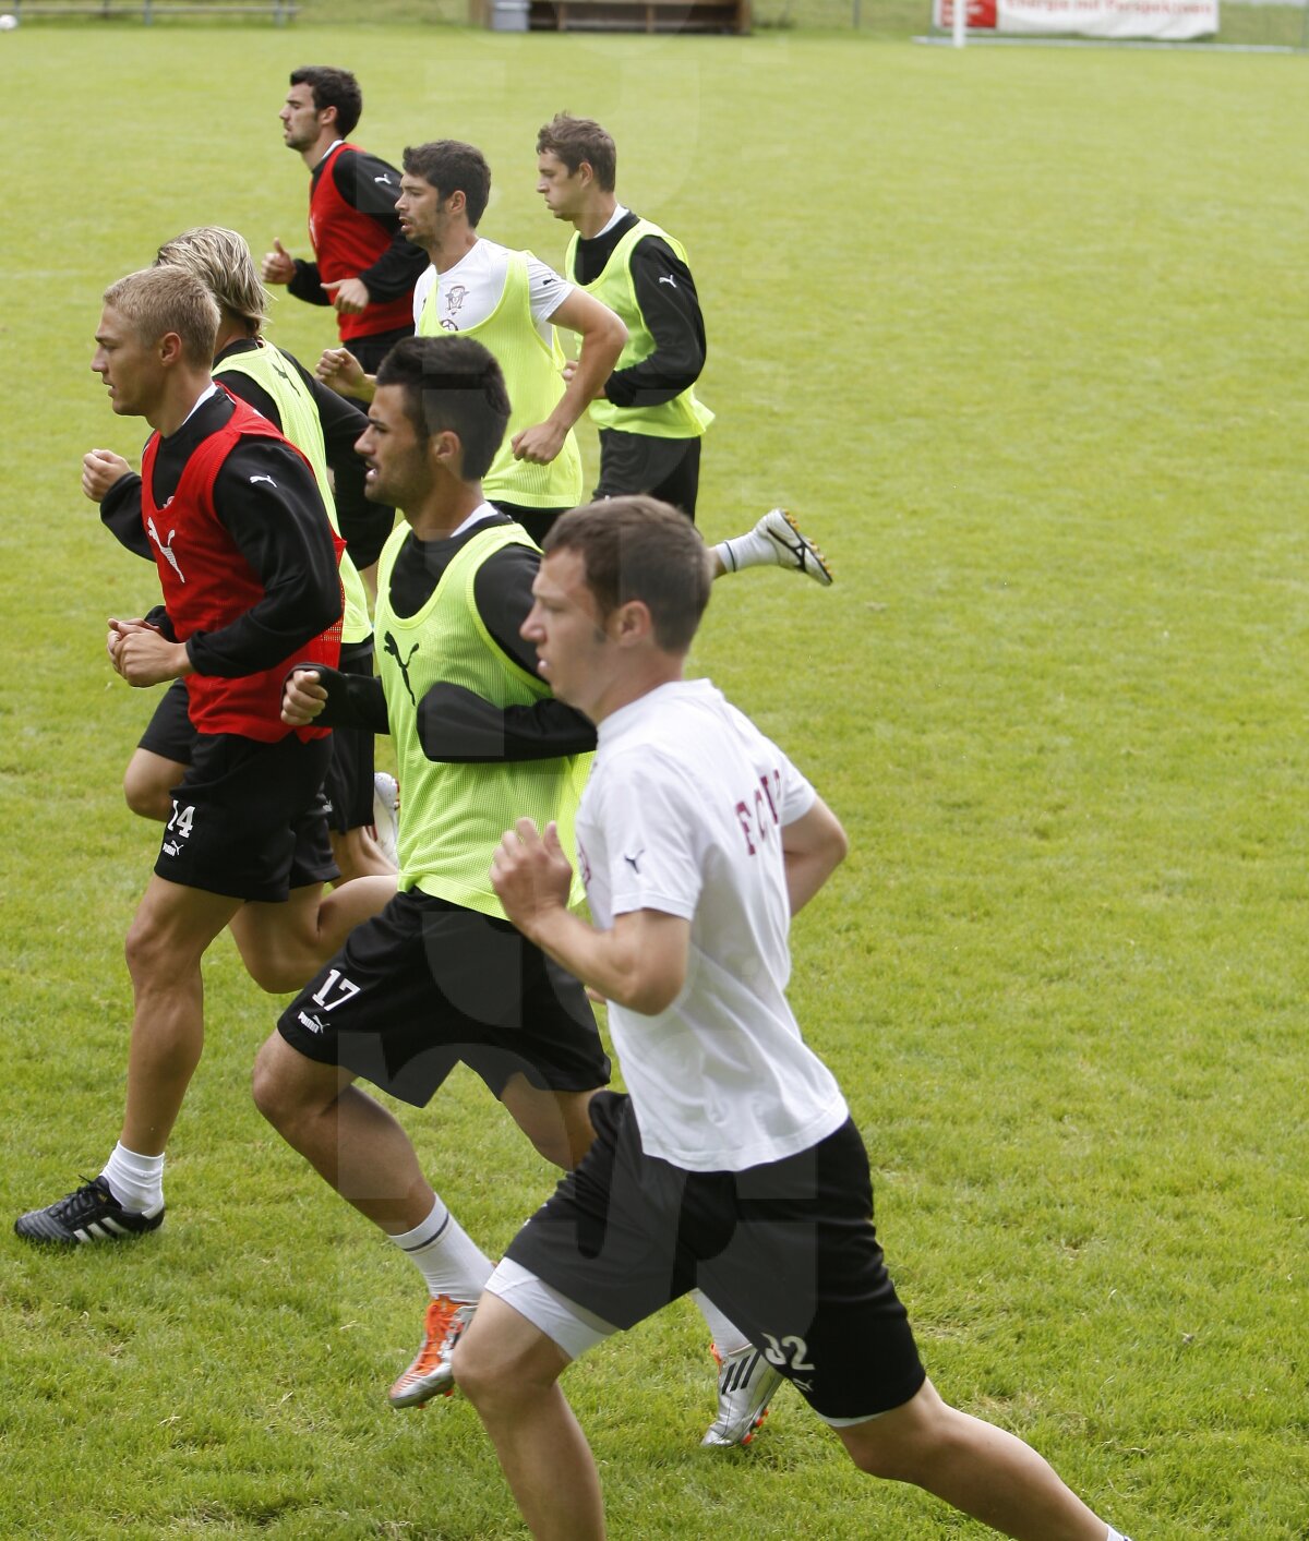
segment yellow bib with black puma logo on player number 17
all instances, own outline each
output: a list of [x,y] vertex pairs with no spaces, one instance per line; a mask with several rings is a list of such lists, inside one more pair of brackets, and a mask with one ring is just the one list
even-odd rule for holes
[[[427,604],[399,616],[390,607],[390,575],[409,527],[387,541],[378,566],[378,670],[387,697],[399,769],[399,888],[504,918],[490,886],[490,860],[506,829],[524,815],[538,829],[554,820],[572,860],[574,824],[592,755],[495,764],[429,760],[418,740],[418,706],[433,684],[459,684],[495,706],[530,706],[550,693],[486,629],[473,595],[487,558],[532,541],[517,524],[478,530],[441,575]],[[574,872],[570,905],[583,898]]]

